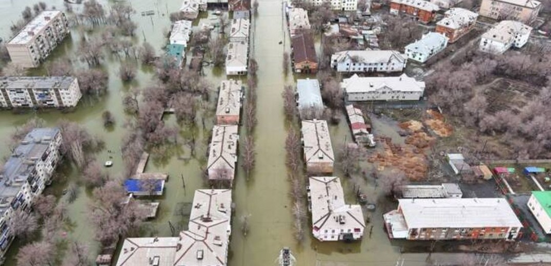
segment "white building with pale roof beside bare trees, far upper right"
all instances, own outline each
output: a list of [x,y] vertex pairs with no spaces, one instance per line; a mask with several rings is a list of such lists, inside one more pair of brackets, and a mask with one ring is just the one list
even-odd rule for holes
[[480,51],[503,54],[511,47],[521,48],[528,42],[532,27],[518,21],[504,20],[480,37]]

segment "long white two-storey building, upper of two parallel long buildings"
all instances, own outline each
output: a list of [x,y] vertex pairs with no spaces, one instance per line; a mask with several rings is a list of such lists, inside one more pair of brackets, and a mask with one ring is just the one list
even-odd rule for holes
[[402,72],[407,57],[393,50],[342,51],[331,56],[331,68],[345,73]]

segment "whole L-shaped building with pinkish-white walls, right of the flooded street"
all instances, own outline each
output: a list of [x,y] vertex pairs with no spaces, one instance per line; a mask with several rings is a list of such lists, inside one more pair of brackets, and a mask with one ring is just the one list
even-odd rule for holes
[[346,204],[341,180],[336,176],[309,178],[308,202],[312,234],[320,241],[353,241],[364,235],[361,206]]

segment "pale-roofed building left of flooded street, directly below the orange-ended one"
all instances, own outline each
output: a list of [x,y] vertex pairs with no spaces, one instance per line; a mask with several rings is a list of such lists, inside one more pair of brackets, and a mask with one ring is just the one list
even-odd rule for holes
[[[225,170],[226,178],[233,179],[237,162],[237,125],[215,125],[208,154],[207,169]],[[209,175],[209,177],[211,177]],[[214,176],[215,177],[215,176]]]

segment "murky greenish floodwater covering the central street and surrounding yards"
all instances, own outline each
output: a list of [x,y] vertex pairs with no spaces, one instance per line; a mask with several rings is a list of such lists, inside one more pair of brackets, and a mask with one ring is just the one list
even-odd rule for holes
[[[47,2],[48,6],[55,5],[58,9],[63,9],[61,0]],[[100,2],[112,3],[112,1]],[[168,14],[177,10],[181,1],[133,0],[130,2],[137,11],[133,20],[139,25],[136,36],[133,38],[134,43],[141,45],[145,38],[160,53],[161,47],[166,43],[163,34],[170,29]],[[7,40],[10,34],[9,26],[12,21],[19,19],[20,12],[25,5],[32,6],[34,3],[34,0],[0,0],[0,15],[4,18],[0,24],[0,34],[4,40]],[[283,20],[282,1],[260,0],[259,3],[258,15],[253,23],[253,51],[259,66],[257,72],[258,124],[254,132],[256,166],[249,181],[245,179],[241,167],[237,170],[233,188],[233,201],[236,210],[233,217],[229,265],[276,265],[279,251],[284,246],[290,247],[298,261],[297,265],[396,265],[401,257],[400,248],[397,245],[392,245],[383,231],[381,213],[383,210],[381,208],[377,208],[373,213],[367,213],[370,215],[371,221],[366,224],[365,236],[359,242],[319,242],[311,236],[311,222],[308,221],[305,241],[296,243],[293,236],[293,215],[291,215],[290,207],[292,201],[289,197],[290,184],[287,179],[284,150],[288,129],[290,126],[296,125],[290,125],[285,121],[281,97],[284,85],[294,85],[293,75],[289,73],[286,76],[282,71],[283,52],[290,49],[289,37]],[[78,5],[74,5],[74,7],[76,9]],[[142,16],[141,12],[147,10],[154,10],[155,14]],[[213,15],[209,14],[209,16]],[[202,18],[202,20],[208,21],[209,18]],[[73,54],[77,50],[82,34],[82,29],[73,29],[71,36],[55,50],[55,53],[48,58],[48,62],[64,54]],[[280,41],[284,41],[283,44],[279,44]],[[78,59],[73,58],[73,60],[77,61]],[[26,120],[34,116],[46,120],[47,125],[55,125],[61,118],[75,121],[87,128],[92,135],[97,135],[105,141],[106,148],[97,154],[98,161],[103,163],[113,156],[111,160],[114,161],[114,167],[107,171],[112,177],[119,177],[123,166],[120,145],[127,130],[123,124],[125,120],[129,119],[128,115],[123,112],[122,98],[130,87],[144,88],[153,80],[153,70],[140,67],[137,79],[129,84],[123,84],[118,77],[119,65],[119,58],[106,56],[102,67],[109,72],[107,95],[98,100],[83,98],[72,113],[62,113],[58,110],[29,111],[24,114],[15,114],[10,110],[1,111],[0,134],[2,140],[6,143],[15,126],[25,123]],[[206,67],[204,72],[212,85],[211,94],[215,95],[219,82],[225,79],[225,75],[220,74],[220,71],[213,71],[210,67]],[[40,75],[41,73],[45,73],[45,69],[36,69],[29,74]],[[210,97],[209,104],[214,104],[213,101],[215,101],[215,97]],[[114,128],[110,130],[105,129],[102,125],[101,114],[105,110],[109,110],[116,120]],[[165,122],[169,125],[176,125],[175,120],[172,115],[165,117]],[[159,198],[161,204],[158,217],[147,223],[147,230],[143,236],[170,236],[169,221],[177,229],[184,229],[181,225],[186,224],[187,217],[181,215],[180,210],[186,203],[192,202],[194,190],[205,188],[201,166],[206,161],[208,140],[204,136],[208,135],[207,133],[212,129],[213,120],[212,114],[209,114],[204,129],[202,125],[181,125],[180,127],[182,138],[185,138],[190,130],[198,132],[197,158],[186,159],[189,153],[186,148],[180,147],[181,143],[171,149],[169,158],[159,159],[155,158],[158,156],[152,154],[154,158],[150,160],[145,171],[166,172],[169,173],[170,179],[166,184],[164,196]],[[389,127],[379,120],[374,123],[375,132],[377,132],[377,128],[386,131]],[[240,140],[244,140],[245,134],[245,127],[242,126]],[[331,137],[334,149],[342,146],[345,138],[351,140],[347,121],[343,115],[338,125],[331,126]],[[107,153],[107,149],[111,149],[115,153]],[[6,145],[0,147],[2,157],[8,156],[9,153]],[[62,169],[63,176],[54,180],[53,185],[48,188],[46,193],[64,197],[62,191],[79,179],[79,174],[74,168],[62,167]],[[335,175],[341,177],[345,193],[348,195],[347,202],[355,203],[356,198],[353,196],[352,187],[338,172]],[[185,189],[182,186],[182,179],[185,181]],[[94,231],[88,223],[86,214],[91,191],[84,189],[80,182],[77,184],[80,186],[80,193],[74,202],[68,204],[72,226],[67,230],[67,238],[88,243],[90,258],[95,258],[98,245],[94,241]],[[375,202],[379,198],[374,191],[374,181],[365,181],[362,189],[369,195],[370,201]],[[250,215],[250,231],[246,237],[241,234],[241,217],[244,215]],[[371,226],[373,229],[370,236],[369,228]],[[18,243],[12,245],[5,265],[15,265],[14,258],[18,246]],[[425,259],[426,254],[408,256],[408,263],[404,265],[425,265]]]

